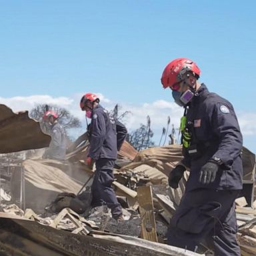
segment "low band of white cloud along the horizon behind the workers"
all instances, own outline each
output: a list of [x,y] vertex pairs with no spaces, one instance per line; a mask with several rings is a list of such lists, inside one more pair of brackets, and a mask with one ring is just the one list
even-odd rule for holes
[[[103,107],[113,109],[115,103],[110,99],[106,99],[103,94],[96,93],[101,99]],[[55,104],[65,107],[71,111],[75,117],[81,119],[83,129],[76,131],[79,135],[85,130],[85,113],[81,111],[79,102],[83,93],[77,93],[71,97],[52,97],[50,95],[31,95],[29,97],[0,97],[0,103],[11,107],[13,111],[31,110],[37,104]],[[171,101],[157,100],[151,103],[143,103],[141,105],[131,105],[128,103],[119,103],[121,105],[120,113],[130,111],[131,114],[126,119],[126,125],[129,131],[137,129],[141,123],[147,124],[147,115],[151,118],[151,129],[155,136],[155,141],[158,143],[161,137],[162,128],[167,126],[167,117],[171,117],[171,125],[175,128],[179,127],[180,118],[183,115],[183,109]],[[239,125],[243,133],[243,137],[251,137],[256,135],[256,113],[238,112],[237,117]],[[170,131],[171,127],[169,127]]]

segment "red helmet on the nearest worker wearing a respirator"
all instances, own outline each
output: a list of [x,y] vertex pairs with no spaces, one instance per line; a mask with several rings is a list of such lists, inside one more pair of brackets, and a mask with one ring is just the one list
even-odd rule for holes
[[161,77],[161,83],[163,88],[171,87],[171,89],[175,89],[175,84],[182,81],[183,75],[187,72],[191,71],[195,73],[198,77],[201,73],[197,64],[191,59],[187,58],[179,58],[171,61],[164,69],[163,75]]

